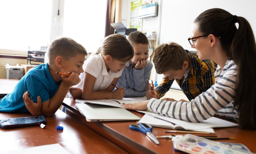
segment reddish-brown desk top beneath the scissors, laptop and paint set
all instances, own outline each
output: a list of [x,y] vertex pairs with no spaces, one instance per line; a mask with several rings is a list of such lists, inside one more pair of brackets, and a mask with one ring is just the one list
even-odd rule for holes
[[[170,139],[159,139],[160,144],[154,144],[145,134],[138,131],[130,130],[129,125],[135,124],[136,121],[116,121],[116,122],[87,122],[80,112],[75,108],[75,100],[65,98],[63,106],[66,106],[67,114],[75,119],[81,121],[84,125],[104,136],[109,141],[117,146],[125,149],[129,153],[180,153],[174,151],[173,143]],[[131,111],[139,117],[143,114]],[[155,136],[171,135],[171,133],[164,133],[167,128],[153,127],[153,134]],[[242,143],[247,146],[251,152],[256,152],[255,138],[256,131],[243,130],[238,127],[230,128],[214,128],[218,137],[232,137],[237,140],[219,140],[221,142]],[[176,134],[178,135],[178,133]],[[181,134],[184,135],[184,134]],[[197,134],[195,134],[197,135]],[[218,140],[216,140],[218,141]]]

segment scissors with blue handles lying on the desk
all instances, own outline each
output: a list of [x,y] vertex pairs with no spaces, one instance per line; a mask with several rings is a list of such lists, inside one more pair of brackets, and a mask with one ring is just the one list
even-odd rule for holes
[[151,125],[139,123],[139,125],[138,124],[129,125],[129,128],[146,134],[155,144],[159,144],[159,141],[157,140],[157,138],[151,133],[153,129]]

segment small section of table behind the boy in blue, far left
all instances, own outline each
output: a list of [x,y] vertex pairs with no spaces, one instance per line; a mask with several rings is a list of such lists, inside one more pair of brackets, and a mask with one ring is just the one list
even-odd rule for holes
[[18,82],[18,79],[0,79],[0,98],[11,93]]

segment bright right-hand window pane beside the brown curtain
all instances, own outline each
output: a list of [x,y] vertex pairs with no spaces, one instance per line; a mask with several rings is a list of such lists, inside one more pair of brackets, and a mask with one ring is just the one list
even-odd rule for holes
[[63,36],[96,52],[105,35],[106,0],[66,0],[64,4]]

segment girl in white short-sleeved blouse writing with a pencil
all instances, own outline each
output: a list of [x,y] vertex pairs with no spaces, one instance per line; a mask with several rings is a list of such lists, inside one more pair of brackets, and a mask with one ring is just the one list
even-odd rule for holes
[[125,90],[119,87],[113,91],[113,84],[117,84],[133,55],[133,47],[123,35],[107,36],[98,51],[86,59],[84,73],[79,76],[81,82],[70,88],[70,94],[74,99],[123,99]]

